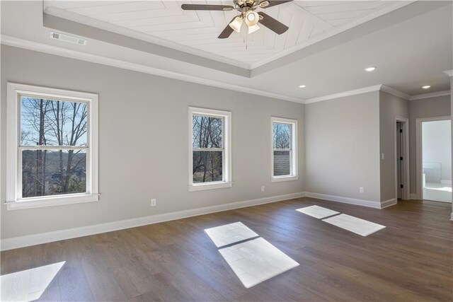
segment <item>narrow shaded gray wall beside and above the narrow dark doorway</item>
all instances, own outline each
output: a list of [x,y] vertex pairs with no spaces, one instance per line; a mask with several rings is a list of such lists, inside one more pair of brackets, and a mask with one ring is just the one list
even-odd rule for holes
[[381,154],[381,202],[395,198],[396,117],[409,118],[409,102],[395,95],[379,93],[379,140]]

